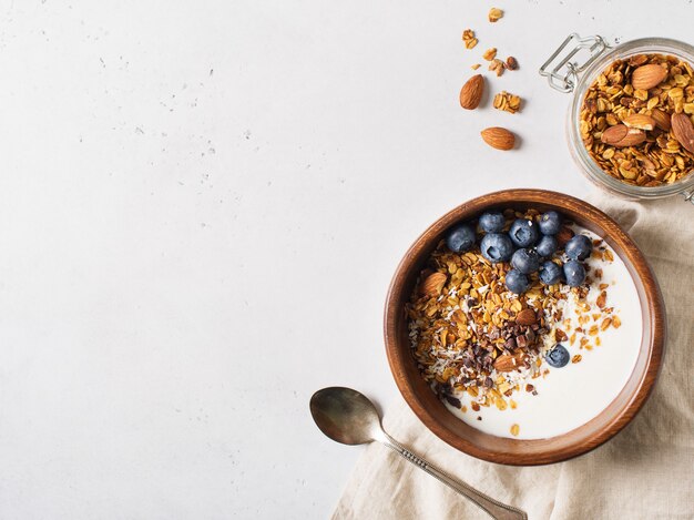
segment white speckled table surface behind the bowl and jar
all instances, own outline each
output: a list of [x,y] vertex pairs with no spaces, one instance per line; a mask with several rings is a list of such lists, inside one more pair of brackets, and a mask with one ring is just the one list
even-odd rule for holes
[[[592,190],[538,67],[572,31],[686,41],[694,16],[490,6],[0,2],[0,518],[329,516],[360,449],[308,399],[397,397],[381,314],[411,241],[486,192]],[[492,45],[522,114],[458,106]]]

